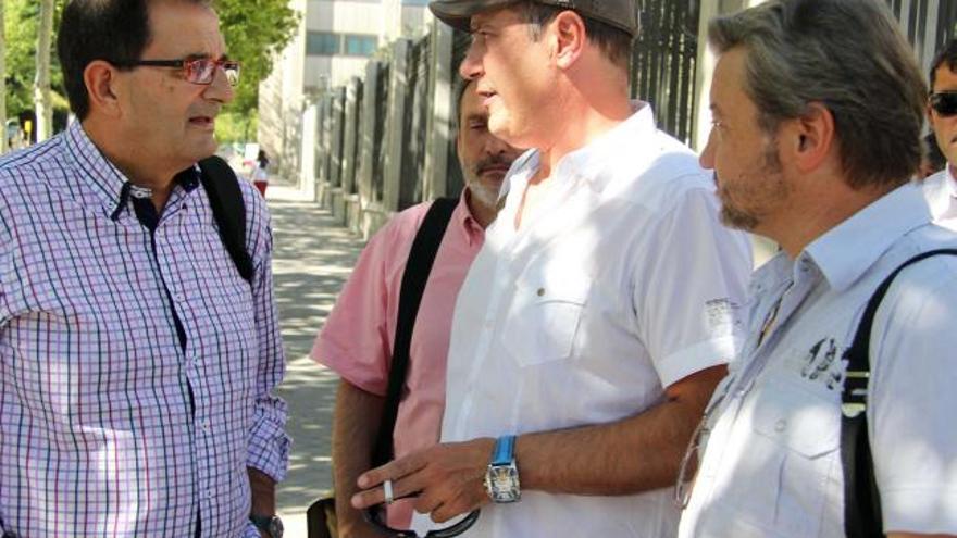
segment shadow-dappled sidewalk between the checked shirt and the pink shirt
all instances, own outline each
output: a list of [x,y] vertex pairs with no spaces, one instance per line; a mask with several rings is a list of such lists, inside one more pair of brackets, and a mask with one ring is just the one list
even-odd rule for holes
[[332,487],[332,413],[338,376],[308,355],[335,304],[363,241],[294,187],[273,179],[266,189],[273,217],[276,302],[286,347],[286,379],[278,395],[289,405],[289,473],[278,485],[287,538],[306,538],[306,509]]

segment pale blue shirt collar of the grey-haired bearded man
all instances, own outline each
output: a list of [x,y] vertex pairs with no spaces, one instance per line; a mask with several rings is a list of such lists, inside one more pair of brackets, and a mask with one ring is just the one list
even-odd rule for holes
[[908,183],[828,230],[808,245],[798,260],[810,260],[831,288],[842,291],[857,281],[902,236],[931,222],[918,185]]

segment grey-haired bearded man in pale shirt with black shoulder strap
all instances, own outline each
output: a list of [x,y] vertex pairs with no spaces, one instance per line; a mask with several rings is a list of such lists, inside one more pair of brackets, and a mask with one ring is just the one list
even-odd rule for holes
[[724,221],[782,251],[755,273],[744,350],[691,445],[679,536],[845,536],[845,509],[865,508],[844,493],[845,383],[866,387],[883,514],[863,536],[957,534],[957,255],[899,273],[862,342],[870,375],[846,368],[880,283],[957,248],[909,182],[927,102],[910,46],[873,0],[769,0],[711,21],[709,41],[701,164]]

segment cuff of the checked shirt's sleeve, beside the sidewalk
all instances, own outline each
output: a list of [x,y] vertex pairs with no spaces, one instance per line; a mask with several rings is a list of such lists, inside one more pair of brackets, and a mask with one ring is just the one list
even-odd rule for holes
[[248,467],[262,471],[270,478],[282,481],[289,466],[291,439],[285,431],[285,402],[270,398],[271,405],[257,406],[256,421],[249,430]]

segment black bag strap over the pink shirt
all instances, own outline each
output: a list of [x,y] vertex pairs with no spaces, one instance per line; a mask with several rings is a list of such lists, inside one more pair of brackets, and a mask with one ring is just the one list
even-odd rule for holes
[[435,254],[445,230],[451,220],[452,212],[459,201],[455,198],[439,198],[432,203],[425,214],[409,259],[406,262],[406,271],[402,273],[402,287],[399,289],[399,311],[396,320],[396,339],[393,345],[393,360],[389,366],[388,390],[386,391],[385,406],[382,411],[382,422],[375,448],[372,452],[372,466],[377,467],[393,459],[393,431],[396,428],[396,416],[399,412],[399,401],[402,398],[402,387],[406,385],[406,374],[409,370],[409,345],[412,341],[412,329],[415,326],[415,317],[419,315],[419,304],[422,302],[422,292]]

